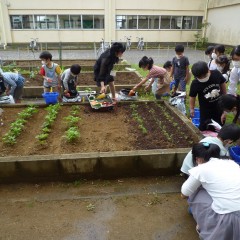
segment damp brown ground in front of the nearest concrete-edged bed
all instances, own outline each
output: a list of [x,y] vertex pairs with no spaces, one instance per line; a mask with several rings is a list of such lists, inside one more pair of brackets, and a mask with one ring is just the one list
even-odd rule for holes
[[197,240],[179,177],[1,185],[1,240]]

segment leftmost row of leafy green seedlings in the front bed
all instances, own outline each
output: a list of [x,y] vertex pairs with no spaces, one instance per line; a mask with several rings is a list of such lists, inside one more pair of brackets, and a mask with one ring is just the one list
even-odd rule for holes
[[17,142],[17,137],[24,129],[24,126],[26,125],[28,119],[30,119],[33,114],[37,112],[37,107],[30,105],[18,113],[18,118],[13,123],[11,123],[10,130],[2,137],[3,143],[7,145],[14,145]]

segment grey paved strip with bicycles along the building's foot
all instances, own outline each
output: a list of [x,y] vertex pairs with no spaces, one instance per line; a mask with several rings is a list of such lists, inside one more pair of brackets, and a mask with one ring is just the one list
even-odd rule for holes
[[[59,59],[59,52],[52,50],[53,59]],[[11,51],[0,50],[0,57],[2,60],[21,60],[21,59],[38,59],[40,52],[26,51]],[[139,60],[143,56],[152,57],[156,64],[164,64],[167,60],[172,60],[175,52],[174,49],[150,49],[150,50],[130,50],[126,51],[123,55],[123,59],[126,59],[129,63],[138,64]],[[203,51],[194,49],[185,49],[185,55],[189,58],[190,64],[198,60],[207,61],[207,58]],[[96,59],[94,50],[63,50],[62,59]]]

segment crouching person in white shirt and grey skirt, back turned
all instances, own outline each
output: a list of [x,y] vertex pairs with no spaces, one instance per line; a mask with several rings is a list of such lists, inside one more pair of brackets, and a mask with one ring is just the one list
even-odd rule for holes
[[240,239],[240,167],[232,160],[216,158],[216,144],[198,143],[192,148],[197,166],[182,185],[204,240]]

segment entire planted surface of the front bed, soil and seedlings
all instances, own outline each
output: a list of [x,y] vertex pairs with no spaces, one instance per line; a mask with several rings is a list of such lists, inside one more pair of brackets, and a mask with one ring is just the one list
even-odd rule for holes
[[88,105],[4,108],[5,155],[108,152],[191,147],[196,137],[163,103],[132,103],[112,112]]

